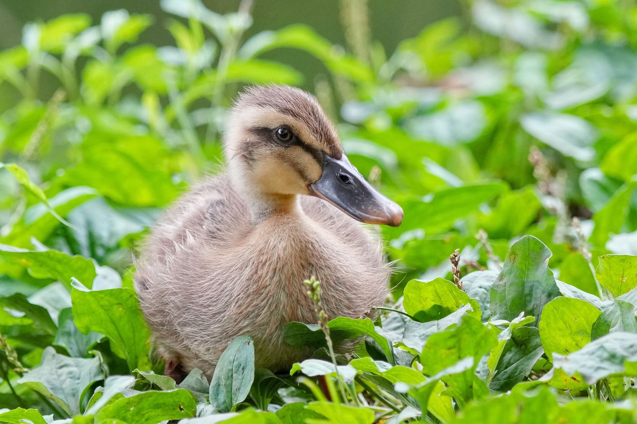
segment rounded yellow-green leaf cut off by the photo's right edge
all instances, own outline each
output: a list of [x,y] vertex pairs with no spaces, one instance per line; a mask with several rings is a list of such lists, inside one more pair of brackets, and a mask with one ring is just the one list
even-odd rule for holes
[[637,287],[637,256],[604,255],[596,271],[599,284],[617,297]]

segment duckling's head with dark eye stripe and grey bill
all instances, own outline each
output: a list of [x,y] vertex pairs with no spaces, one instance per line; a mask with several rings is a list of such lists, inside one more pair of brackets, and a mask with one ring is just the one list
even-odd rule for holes
[[233,183],[262,209],[305,194],[361,222],[397,227],[403,220],[403,209],[347,159],[317,99],[299,88],[247,88],[229,114],[224,143]]

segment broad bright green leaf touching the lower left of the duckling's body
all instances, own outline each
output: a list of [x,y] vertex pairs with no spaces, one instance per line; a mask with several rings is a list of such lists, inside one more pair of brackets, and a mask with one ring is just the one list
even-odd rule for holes
[[73,288],[71,302],[75,325],[81,332],[95,331],[108,337],[113,352],[126,360],[131,371],[147,367],[150,333],[133,290],[83,292]]

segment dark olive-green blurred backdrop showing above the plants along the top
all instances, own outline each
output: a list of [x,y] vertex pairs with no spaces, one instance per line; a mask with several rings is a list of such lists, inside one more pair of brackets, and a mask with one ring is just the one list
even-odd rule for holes
[[[241,2],[208,0],[202,3],[218,13],[230,13],[238,10]],[[165,25],[171,19],[171,15],[161,9],[157,0],[3,0],[0,2],[0,48],[20,43],[22,27],[27,22],[47,21],[64,13],[87,13],[94,22],[99,22],[104,12],[120,8],[130,13],[148,13],[154,18],[156,25],[140,34],[140,43],[151,43],[156,46],[173,43],[173,38]],[[415,36],[427,24],[459,15],[460,11],[457,0],[376,0],[369,2],[369,28],[374,38],[382,43],[388,52],[393,52],[403,39]],[[252,15],[254,25],[245,32],[247,37],[290,24],[306,24],[332,43],[346,45],[338,0],[256,0]],[[314,76],[325,72],[320,60],[298,50],[268,52],[264,57],[294,66],[306,76],[303,84],[303,88],[306,89],[313,86]],[[54,81],[50,81],[50,84],[53,85]]]

